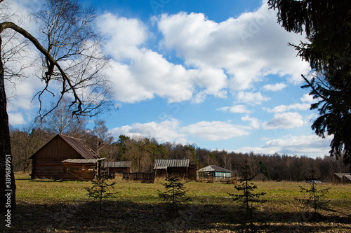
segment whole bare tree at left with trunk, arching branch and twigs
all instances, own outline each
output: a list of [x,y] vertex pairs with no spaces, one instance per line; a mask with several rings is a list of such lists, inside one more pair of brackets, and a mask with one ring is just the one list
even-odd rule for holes
[[[1,6],[4,0],[0,0]],[[32,43],[43,57],[44,71],[39,78],[45,83],[43,90],[35,97],[39,100],[40,116],[43,98],[46,94],[58,96],[56,108],[63,96],[72,97],[69,108],[73,115],[96,115],[102,107],[111,106],[110,84],[100,73],[107,64],[100,49],[101,39],[95,34],[95,14],[91,9],[82,8],[77,1],[47,0],[43,10],[38,13],[41,29],[44,31],[43,43],[29,32],[6,18],[0,22],[0,50],[2,36],[6,31],[15,31]],[[46,29],[46,30],[44,30]],[[46,44],[46,48],[43,45]],[[2,52],[1,52],[2,55]],[[10,131],[8,127],[7,99],[5,91],[4,59],[0,57],[0,212],[15,209],[15,178],[13,175]],[[58,90],[60,85],[60,90]],[[7,179],[7,180],[6,180]],[[11,202],[8,203],[8,200]],[[8,203],[8,204],[7,204]],[[7,208],[6,206],[11,206]]]

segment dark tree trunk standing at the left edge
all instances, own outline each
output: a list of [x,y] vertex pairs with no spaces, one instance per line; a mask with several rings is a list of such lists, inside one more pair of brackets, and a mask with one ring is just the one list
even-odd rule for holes
[[15,176],[13,174],[10,129],[8,127],[6,105],[4,66],[0,57],[0,213],[14,211],[16,207],[16,186]]

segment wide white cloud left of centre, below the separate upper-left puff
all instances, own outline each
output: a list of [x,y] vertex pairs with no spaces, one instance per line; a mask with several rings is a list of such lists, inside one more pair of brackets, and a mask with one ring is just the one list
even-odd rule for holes
[[187,70],[152,50],[140,52],[130,65],[110,61],[111,69],[106,72],[112,78],[119,101],[133,103],[156,95],[169,102],[203,101],[198,98],[201,94],[225,97],[227,76],[222,70]]

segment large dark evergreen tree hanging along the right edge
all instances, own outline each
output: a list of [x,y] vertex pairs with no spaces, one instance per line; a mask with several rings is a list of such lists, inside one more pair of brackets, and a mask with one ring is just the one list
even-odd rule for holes
[[351,172],[351,2],[340,0],[269,0],[286,31],[305,32],[307,42],[293,45],[310,62],[303,76],[316,99],[315,134],[332,136],[330,155],[342,157]]

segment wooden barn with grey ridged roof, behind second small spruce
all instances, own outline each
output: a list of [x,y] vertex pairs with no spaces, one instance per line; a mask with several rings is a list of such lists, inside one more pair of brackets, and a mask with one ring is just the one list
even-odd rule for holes
[[179,178],[195,181],[197,179],[197,166],[190,164],[190,160],[155,160],[155,178],[166,178],[175,175]]

